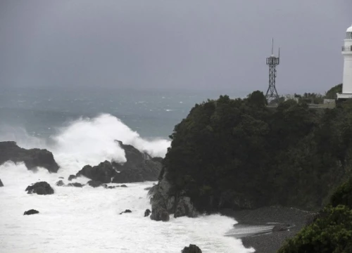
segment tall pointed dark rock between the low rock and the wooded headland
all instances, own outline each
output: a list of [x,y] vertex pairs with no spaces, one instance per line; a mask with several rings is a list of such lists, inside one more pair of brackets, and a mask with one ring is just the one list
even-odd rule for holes
[[161,171],[161,157],[151,157],[147,153],[142,153],[132,145],[125,145],[121,141],[116,141],[125,150],[127,162],[120,164],[112,162],[113,167],[120,171],[113,179],[113,183],[134,183],[143,181],[156,181]]

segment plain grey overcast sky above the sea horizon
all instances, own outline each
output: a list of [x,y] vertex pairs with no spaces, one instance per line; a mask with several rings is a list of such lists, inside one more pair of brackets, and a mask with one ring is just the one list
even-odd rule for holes
[[342,80],[351,0],[0,0],[0,86],[266,91]]

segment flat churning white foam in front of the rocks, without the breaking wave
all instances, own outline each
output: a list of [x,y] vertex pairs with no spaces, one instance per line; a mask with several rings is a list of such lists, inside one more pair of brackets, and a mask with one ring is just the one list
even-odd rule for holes
[[[144,188],[152,182],[115,189],[58,187],[60,172],[39,168],[34,173],[12,162],[0,167],[0,175],[4,252],[180,252],[189,243],[203,252],[253,252],[241,240],[225,237],[235,223],[225,216],[171,217],[165,223],[144,217],[150,209]],[[80,178],[80,183],[87,180]],[[27,195],[25,188],[36,181],[50,183],[54,195]],[[28,209],[40,213],[23,216]],[[125,209],[132,213],[120,215]]]

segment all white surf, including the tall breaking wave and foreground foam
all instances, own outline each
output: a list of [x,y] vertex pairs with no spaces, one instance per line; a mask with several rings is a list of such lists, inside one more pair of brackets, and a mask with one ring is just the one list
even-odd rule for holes
[[[153,155],[165,154],[170,145],[166,140],[147,141],[111,115],[71,122],[51,143],[25,132],[7,137],[11,136],[6,140],[25,148],[48,148],[61,169],[49,174],[46,169],[28,171],[24,164],[12,162],[0,166],[4,183],[0,188],[1,252],[180,252],[189,243],[199,245],[203,252],[253,252],[245,249],[241,240],[225,236],[236,222],[225,216],[171,217],[165,223],[144,217],[145,209],[151,208],[144,188],[152,182],[115,189],[55,186],[58,177],[68,183],[68,175],[85,164],[122,161],[124,154],[114,139]],[[0,141],[6,141],[4,138],[0,136]],[[37,181],[50,183],[54,195],[27,195],[25,188]],[[86,183],[88,179],[77,181]],[[28,209],[40,213],[23,216]],[[120,215],[125,209],[132,213]]]

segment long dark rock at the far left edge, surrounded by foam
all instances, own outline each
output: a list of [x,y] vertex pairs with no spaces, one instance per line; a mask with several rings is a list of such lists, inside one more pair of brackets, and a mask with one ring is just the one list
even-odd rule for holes
[[44,167],[54,173],[59,168],[54,160],[54,155],[50,151],[39,148],[26,150],[18,147],[14,141],[0,142],[0,164],[7,161],[24,162],[27,169]]

